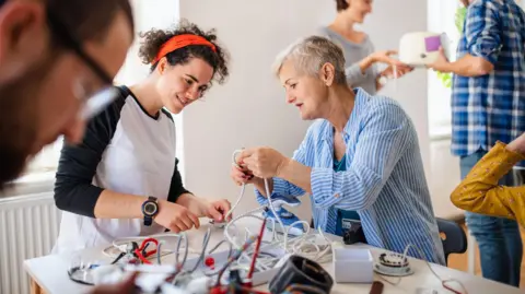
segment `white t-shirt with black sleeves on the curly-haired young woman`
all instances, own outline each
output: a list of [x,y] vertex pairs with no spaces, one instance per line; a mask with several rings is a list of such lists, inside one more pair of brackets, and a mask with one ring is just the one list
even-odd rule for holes
[[172,202],[188,192],[177,170],[170,113],[162,109],[152,117],[129,89],[119,90],[120,97],[89,122],[83,142],[62,148],[55,202],[63,212],[54,252],[164,232],[155,223],[144,226],[140,219],[95,219],[94,208],[104,189]]

